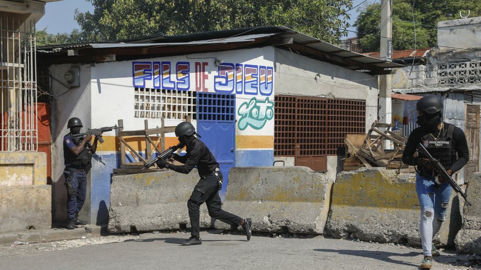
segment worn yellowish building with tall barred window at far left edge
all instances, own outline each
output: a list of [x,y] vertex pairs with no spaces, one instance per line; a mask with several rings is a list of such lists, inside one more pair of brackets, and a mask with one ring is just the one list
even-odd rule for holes
[[0,1],[0,233],[51,226],[45,107],[37,106],[35,22],[56,0]]

